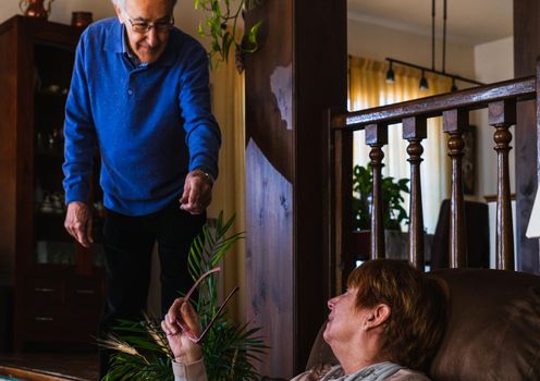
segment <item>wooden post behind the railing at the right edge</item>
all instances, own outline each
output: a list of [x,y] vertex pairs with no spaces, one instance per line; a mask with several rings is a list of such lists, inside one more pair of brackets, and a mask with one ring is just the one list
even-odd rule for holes
[[[516,77],[536,75],[540,56],[540,4],[537,0],[514,0],[514,71]],[[520,102],[515,128],[516,168],[516,247],[517,269],[540,273],[538,239],[525,236],[535,201],[540,164],[539,126],[536,102]],[[535,144],[536,143],[536,144]]]

